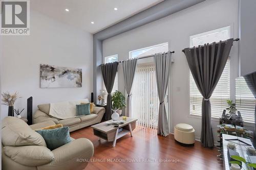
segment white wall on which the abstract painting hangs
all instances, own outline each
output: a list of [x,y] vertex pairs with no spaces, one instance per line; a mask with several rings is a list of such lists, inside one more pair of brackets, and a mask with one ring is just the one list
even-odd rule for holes
[[[30,36],[2,36],[2,92],[19,92],[15,108],[25,108],[33,96],[38,104],[91,98],[93,90],[93,36],[41,13],[30,13]],[[40,64],[82,68],[81,88],[40,88]],[[2,107],[2,117],[8,107]]]

